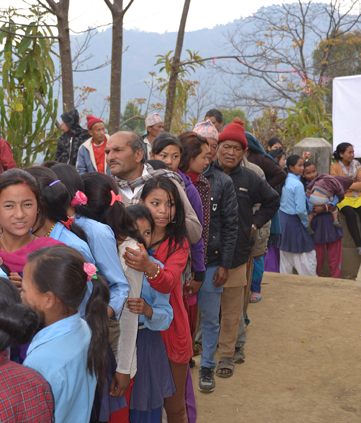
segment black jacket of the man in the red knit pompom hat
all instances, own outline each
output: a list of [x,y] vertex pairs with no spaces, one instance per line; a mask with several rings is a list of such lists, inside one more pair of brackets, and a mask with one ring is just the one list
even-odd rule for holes
[[[218,159],[216,164],[219,164]],[[249,236],[252,223],[261,228],[271,220],[280,207],[280,196],[265,179],[240,163],[231,170],[229,176],[233,180],[238,202],[238,233],[231,266],[233,269],[246,263],[250,257]],[[257,203],[261,207],[253,214],[253,206]]]

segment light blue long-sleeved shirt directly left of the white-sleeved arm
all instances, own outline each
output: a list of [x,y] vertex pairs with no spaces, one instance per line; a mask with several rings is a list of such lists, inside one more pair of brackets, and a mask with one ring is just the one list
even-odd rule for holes
[[80,215],[75,215],[74,222],[86,233],[99,275],[104,277],[109,287],[109,306],[118,320],[130,286],[120,265],[114,232],[108,225]]

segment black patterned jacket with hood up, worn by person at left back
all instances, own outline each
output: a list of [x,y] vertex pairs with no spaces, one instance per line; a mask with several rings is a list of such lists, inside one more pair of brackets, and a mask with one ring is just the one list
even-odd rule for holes
[[79,113],[76,109],[65,111],[61,118],[70,131],[59,136],[55,160],[75,166],[79,147],[89,138],[89,132],[79,125]]

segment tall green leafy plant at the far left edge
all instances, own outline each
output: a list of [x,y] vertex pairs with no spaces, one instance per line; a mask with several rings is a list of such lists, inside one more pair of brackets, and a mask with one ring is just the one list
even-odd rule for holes
[[15,24],[21,15],[9,8],[7,23],[0,28],[0,40],[4,43],[0,55],[1,136],[10,143],[19,167],[34,163],[38,154],[51,158],[57,139],[57,100],[53,100],[51,87],[53,40],[24,38],[51,35],[51,31],[40,26],[46,13],[35,6],[29,10],[26,17],[29,24],[21,26]]

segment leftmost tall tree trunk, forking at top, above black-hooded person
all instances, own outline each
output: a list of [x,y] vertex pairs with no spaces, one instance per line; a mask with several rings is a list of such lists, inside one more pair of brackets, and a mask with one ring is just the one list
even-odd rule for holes
[[50,11],[57,18],[59,55],[61,65],[61,84],[63,92],[63,111],[74,109],[74,88],[72,82],[72,50],[69,32],[69,1],[46,0]]

